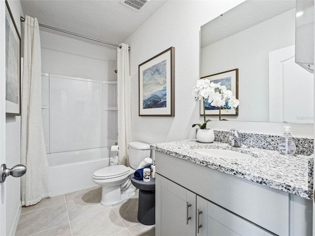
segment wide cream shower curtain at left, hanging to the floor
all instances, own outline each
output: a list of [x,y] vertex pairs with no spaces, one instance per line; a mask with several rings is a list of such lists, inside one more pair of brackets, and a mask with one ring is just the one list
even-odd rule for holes
[[36,18],[25,17],[22,80],[21,164],[27,168],[21,178],[22,206],[50,196],[49,171],[41,115],[41,56]]

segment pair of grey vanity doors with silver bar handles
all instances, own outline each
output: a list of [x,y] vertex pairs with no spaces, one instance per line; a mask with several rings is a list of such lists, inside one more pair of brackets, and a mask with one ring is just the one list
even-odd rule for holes
[[156,236],[271,236],[251,222],[157,174]]

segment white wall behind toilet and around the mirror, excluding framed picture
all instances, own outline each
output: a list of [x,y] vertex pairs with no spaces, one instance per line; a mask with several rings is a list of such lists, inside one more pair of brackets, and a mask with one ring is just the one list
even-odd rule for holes
[[[158,143],[194,138],[193,123],[202,122],[191,91],[199,78],[200,27],[242,0],[167,1],[127,40],[130,46],[131,108],[134,141]],[[175,117],[138,116],[138,65],[175,47]],[[292,126],[292,135],[313,138],[313,125]],[[212,121],[209,128],[283,134],[283,123]]]

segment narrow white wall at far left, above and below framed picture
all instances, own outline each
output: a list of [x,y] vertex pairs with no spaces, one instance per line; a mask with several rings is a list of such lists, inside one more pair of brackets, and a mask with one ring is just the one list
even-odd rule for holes
[[[20,16],[23,16],[20,0],[8,0],[15,24],[21,32]],[[22,43],[22,42],[21,42]],[[2,50],[1,50],[2,53]],[[22,52],[23,53],[23,52]],[[6,166],[12,168],[21,163],[20,158],[20,130],[21,117],[6,116],[5,125],[6,142]],[[2,163],[1,163],[2,164]],[[6,232],[7,235],[14,233],[21,209],[21,180],[20,178],[8,177],[6,184]]]

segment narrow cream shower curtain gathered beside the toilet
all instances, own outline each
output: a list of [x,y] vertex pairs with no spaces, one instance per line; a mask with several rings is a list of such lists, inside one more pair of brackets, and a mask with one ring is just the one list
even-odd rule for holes
[[118,88],[118,163],[129,165],[128,143],[131,142],[131,97],[128,44],[117,49]]

